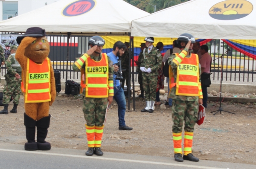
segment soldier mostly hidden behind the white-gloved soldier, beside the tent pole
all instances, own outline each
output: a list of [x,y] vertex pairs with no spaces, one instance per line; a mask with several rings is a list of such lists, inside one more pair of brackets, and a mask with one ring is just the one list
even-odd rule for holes
[[142,77],[142,71],[140,70],[140,65],[143,61],[143,50],[145,49],[146,47],[146,44],[145,43],[141,43],[140,45],[140,49],[141,49],[141,52],[139,54],[139,57],[138,57],[138,60],[135,61],[135,63],[137,64],[137,72],[138,72],[138,82],[140,84],[140,95],[139,97],[140,98],[144,98],[144,90],[143,90],[143,77]]

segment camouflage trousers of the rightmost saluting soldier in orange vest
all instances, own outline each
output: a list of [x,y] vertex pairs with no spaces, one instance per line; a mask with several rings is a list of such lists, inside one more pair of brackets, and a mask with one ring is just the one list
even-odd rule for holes
[[182,132],[185,121],[185,132],[194,132],[194,126],[198,118],[198,101],[172,100],[172,132]]

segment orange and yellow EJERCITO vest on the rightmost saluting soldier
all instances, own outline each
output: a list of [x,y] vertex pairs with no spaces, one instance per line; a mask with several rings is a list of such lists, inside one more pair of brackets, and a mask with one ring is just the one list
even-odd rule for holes
[[[175,53],[178,56],[178,53]],[[199,82],[199,60],[197,54],[184,57],[177,66],[177,79],[174,83],[174,76],[169,66],[170,88],[176,86],[176,95],[200,96],[201,82]]]

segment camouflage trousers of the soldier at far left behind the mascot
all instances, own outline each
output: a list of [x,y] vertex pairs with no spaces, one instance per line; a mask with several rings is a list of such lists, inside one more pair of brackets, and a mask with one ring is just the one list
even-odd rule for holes
[[20,89],[21,79],[17,80],[16,77],[10,77],[6,79],[6,85],[3,89],[3,104],[9,104],[12,97],[13,103],[19,104],[20,102]]

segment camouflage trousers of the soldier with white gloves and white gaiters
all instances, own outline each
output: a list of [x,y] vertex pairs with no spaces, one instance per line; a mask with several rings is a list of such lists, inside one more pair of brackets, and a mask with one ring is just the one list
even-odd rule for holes
[[157,75],[146,76],[143,74],[143,89],[146,101],[155,101],[157,97]]

